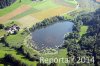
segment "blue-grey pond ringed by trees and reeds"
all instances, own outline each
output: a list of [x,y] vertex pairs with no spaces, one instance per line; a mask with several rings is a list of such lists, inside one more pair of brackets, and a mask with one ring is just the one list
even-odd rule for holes
[[57,22],[32,32],[32,40],[40,50],[45,48],[57,48],[63,44],[64,35],[72,32],[72,27],[72,22]]

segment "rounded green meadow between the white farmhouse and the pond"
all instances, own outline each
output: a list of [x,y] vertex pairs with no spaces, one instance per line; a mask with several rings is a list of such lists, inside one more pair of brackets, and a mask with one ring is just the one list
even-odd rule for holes
[[27,36],[27,33],[18,32],[16,35],[10,35],[6,38],[6,41],[8,44],[10,44],[11,47],[19,47],[23,44],[25,36]]

